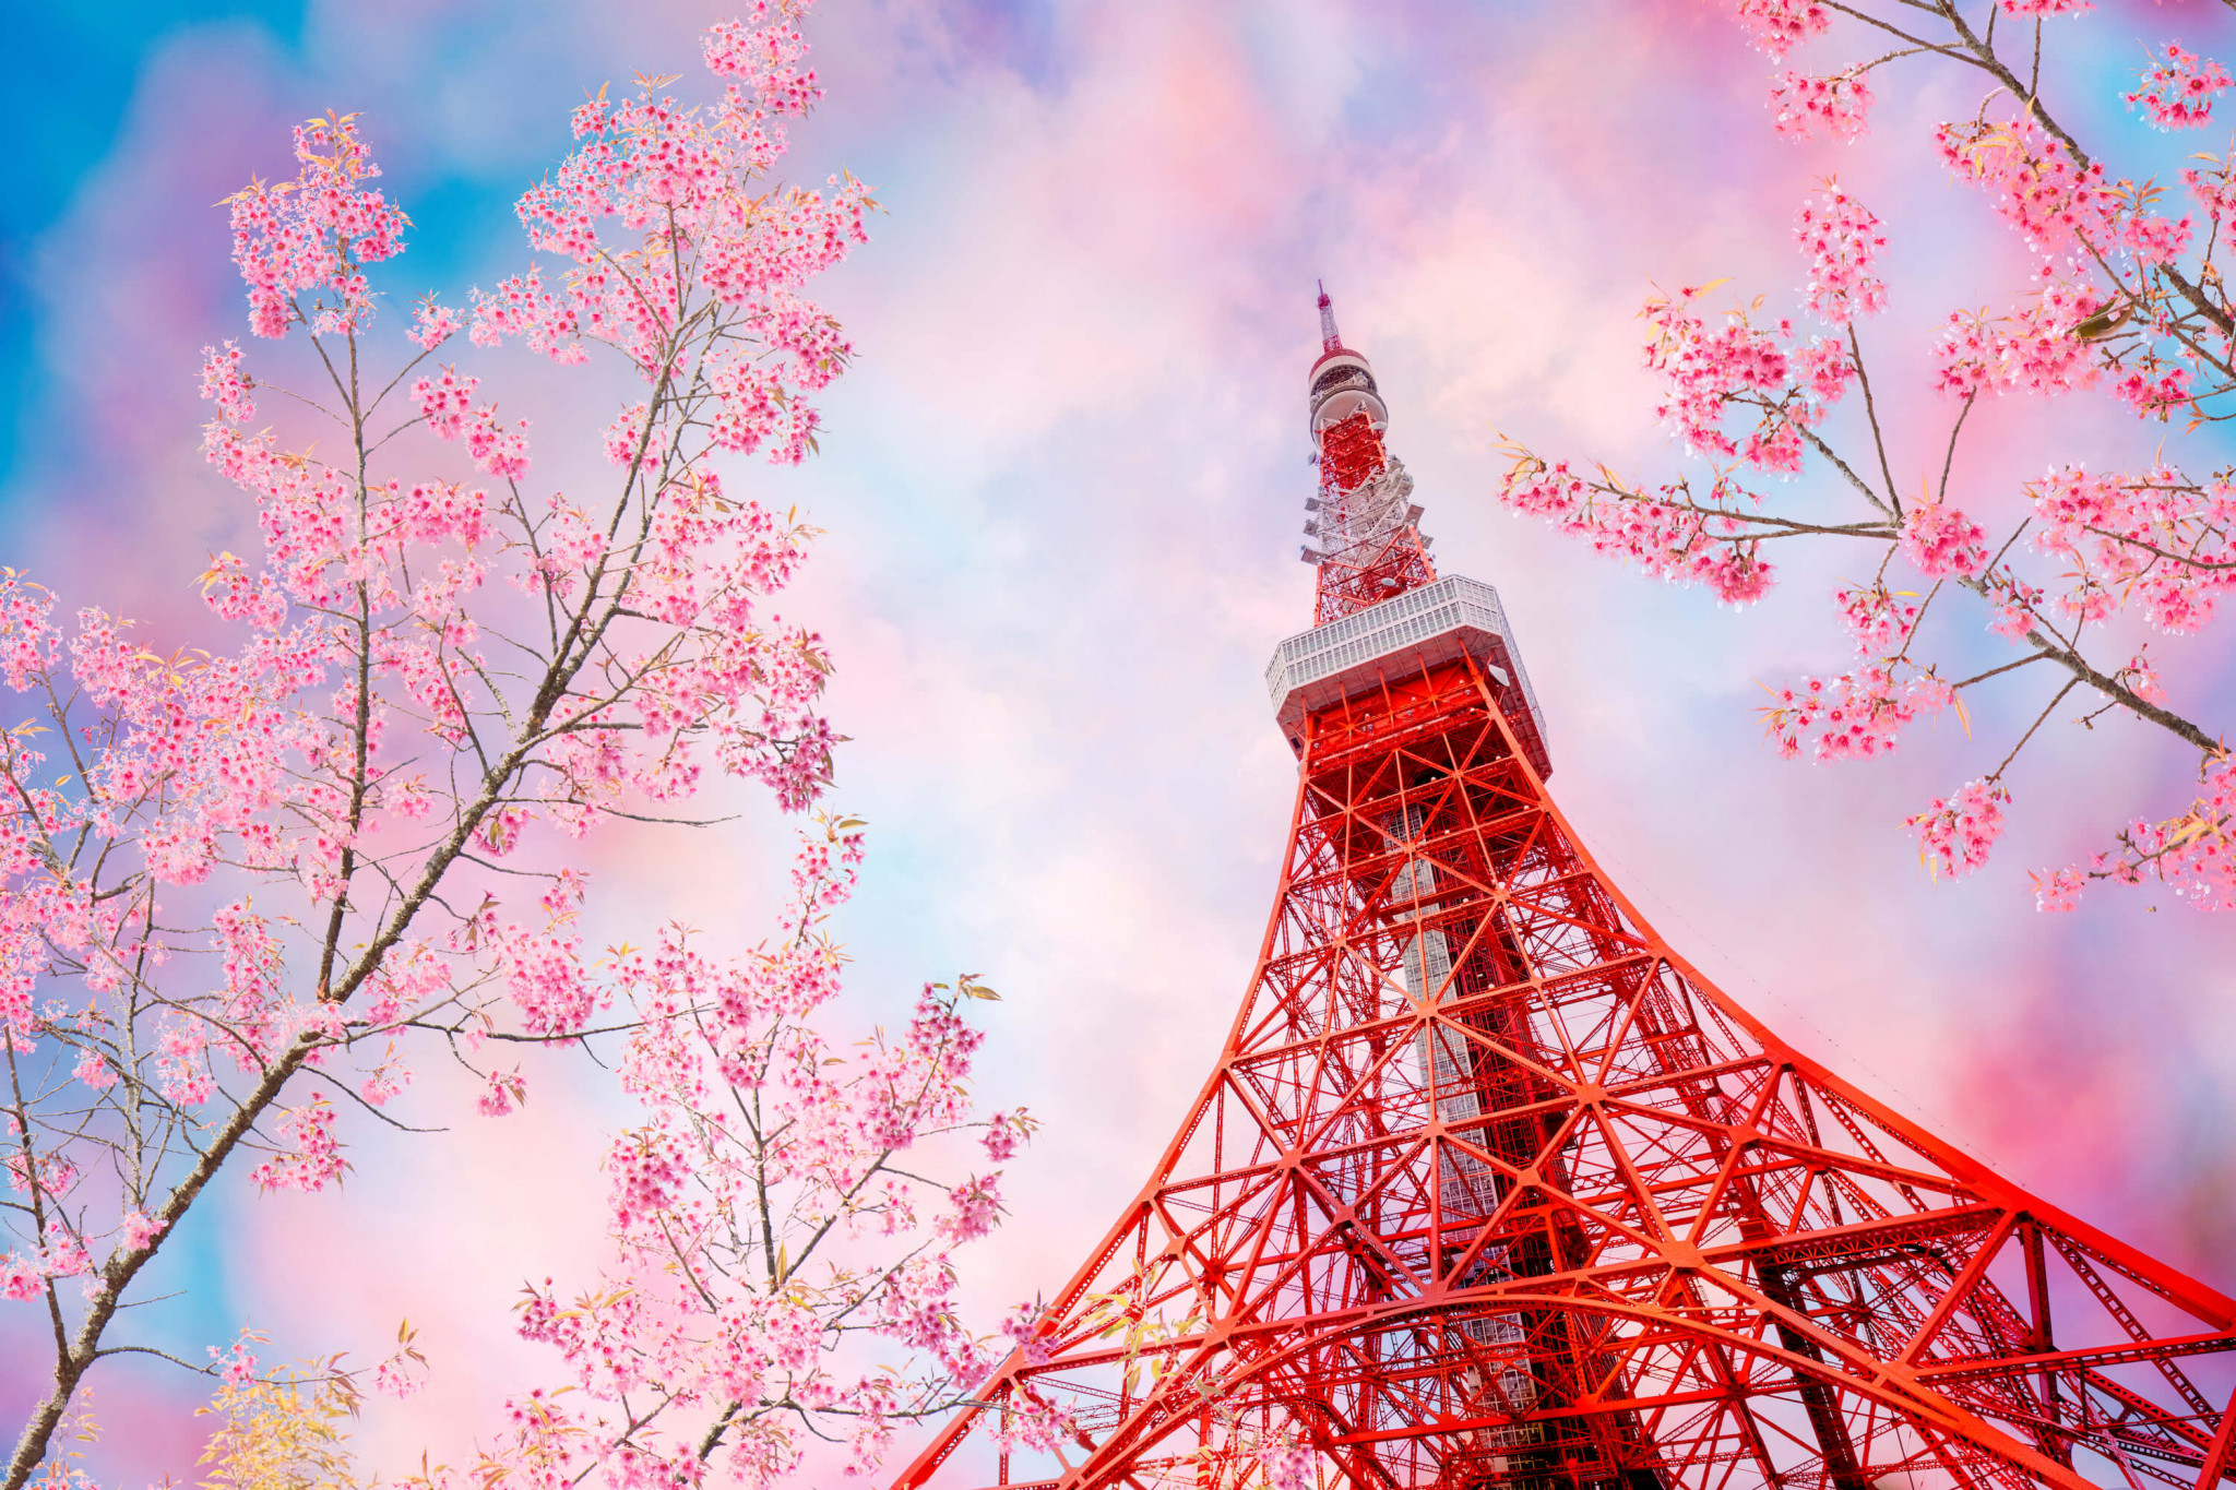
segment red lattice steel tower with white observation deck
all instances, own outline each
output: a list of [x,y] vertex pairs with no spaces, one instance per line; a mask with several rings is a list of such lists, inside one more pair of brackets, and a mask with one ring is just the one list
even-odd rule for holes
[[1798,1054],[1646,925],[1319,308],[1319,594],[1268,670],[1299,784],[1257,972],[1149,1182],[897,1490],[2216,1490],[2236,1302]]

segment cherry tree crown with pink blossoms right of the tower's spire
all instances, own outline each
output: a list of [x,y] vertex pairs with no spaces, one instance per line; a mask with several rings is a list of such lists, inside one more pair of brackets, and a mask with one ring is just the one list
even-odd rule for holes
[[[2086,865],[2037,873],[2039,905],[2068,909],[2091,880],[2153,880],[2191,905],[2229,909],[2227,722],[2205,699],[2169,699],[2135,637],[2194,634],[2236,588],[2236,467],[2211,453],[2211,427],[2236,413],[2236,299],[2220,243],[2223,226],[2236,226],[2236,174],[2229,159],[2202,154],[2173,192],[2117,174],[2066,127],[2071,101],[2046,96],[2044,56],[2115,45],[2088,34],[2091,9],[2088,0],[1737,0],[1740,27],[1775,67],[1769,103],[1780,134],[1856,141],[1872,78],[1885,85],[1885,69],[1936,67],[1974,89],[1977,112],[1939,125],[1930,145],[2017,235],[2033,279],[1997,286],[1999,311],[1945,317],[1930,346],[1943,416],[1927,429],[1896,427],[1874,400],[1865,333],[1894,293],[1878,273],[1887,232],[1829,181],[1793,219],[1809,266],[1802,324],[1764,319],[1760,299],[1713,313],[1715,286],[1657,295],[1643,311],[1646,364],[1664,386],[1657,418],[1699,474],[1641,485],[1516,442],[1498,498],[1733,605],[1773,585],[1780,543],[1842,545],[1867,576],[1831,596],[1856,663],[1775,693],[1764,722],[1782,755],[1878,755],[1912,722],[1961,713],[1974,688],[2037,688],[2035,724],[1995,742],[1986,751],[1995,764],[1910,818],[1927,867],[1965,873],[1988,860],[2015,806],[2008,771],[2041,724],[2062,708],[2079,708],[2082,722],[2129,715],[2196,751],[2196,797],[2109,831]],[[1802,45],[1829,51],[1834,65],[1787,67]],[[2160,130],[2198,130],[2229,85],[2218,63],[2167,40],[2124,101]],[[2044,451],[2039,476],[2012,491],[1952,489],[1968,416],[2006,395],[2111,400],[2160,427],[2164,442],[2142,467]],[[1804,469],[1818,480],[1766,480]],[[1925,480],[1896,480],[1898,471]],[[1952,625],[1986,628],[2010,657],[1963,675],[1950,661]]]

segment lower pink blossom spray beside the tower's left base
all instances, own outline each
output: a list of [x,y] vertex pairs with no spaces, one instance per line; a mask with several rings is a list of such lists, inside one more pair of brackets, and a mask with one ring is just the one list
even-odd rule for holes
[[[501,1441],[476,1474],[519,1468],[532,1443],[570,1474],[626,1465],[648,1483],[695,1483],[707,1423],[736,1419],[713,1436],[711,1463],[767,1486],[805,1443],[798,1419],[769,1403],[798,1405],[868,1465],[899,1414],[950,1401],[993,1365],[959,1325],[950,1253],[997,1224],[999,1173],[928,1186],[923,1148],[979,1130],[986,1153],[1006,1157],[1033,1124],[1022,1110],[973,1115],[964,1083],[982,1037],[964,1010],[993,996],[973,978],[926,987],[906,1030],[850,1054],[812,1021],[836,996],[841,963],[818,927],[852,894],[861,842],[850,818],[803,831],[789,909],[754,954],[718,963],[671,927],[613,967],[610,999],[633,1023],[622,1083],[644,1106],[606,1155],[615,1251],[570,1302],[552,1282],[530,1289],[519,1325],[595,1410],[561,1439]],[[749,1119],[727,1117],[716,1092],[749,1095]],[[736,1215],[762,1220],[724,1220]],[[903,1260],[885,1269],[845,1251],[892,1238]],[[836,1351],[854,1331],[915,1351],[928,1374],[843,1369]],[[648,1383],[666,1410],[601,1407]],[[1051,1441],[1053,1423],[1015,1430]]]

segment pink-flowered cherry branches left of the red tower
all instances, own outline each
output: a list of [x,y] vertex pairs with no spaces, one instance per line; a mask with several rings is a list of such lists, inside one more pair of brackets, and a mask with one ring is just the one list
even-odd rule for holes
[[[691,795],[709,757],[767,782],[787,809],[814,800],[830,775],[839,735],[814,704],[830,672],[821,641],[756,614],[758,596],[787,583],[809,532],[729,496],[707,465],[718,451],[765,447],[796,460],[812,449],[814,413],[800,393],[847,360],[836,324],[798,299],[798,286],[861,241],[861,214],[874,203],[852,179],[830,199],[792,188],[740,194],[740,181],[774,161],[774,136],[758,121],[800,112],[816,92],[798,67],[789,16],[785,7],[756,29],[716,27],[709,65],[740,83],[711,112],[675,109],[651,92],[584,105],[577,136],[595,143],[521,199],[532,246],[570,261],[559,288],[543,288],[541,270],[530,270],[476,297],[476,344],[521,337],[561,364],[586,355],[586,344],[601,346],[644,375],[644,400],[606,431],[606,453],[624,471],[604,512],[557,494],[546,500],[528,485],[525,422],[499,420],[472,375],[447,364],[414,375],[463,328],[440,304],[423,302],[414,315],[418,353],[402,371],[385,382],[369,371],[378,355],[362,335],[373,315],[364,270],[400,250],[402,214],[362,188],[376,168],[349,116],[326,116],[297,132],[295,183],[255,183],[230,206],[250,328],[266,337],[309,331],[335,389],[338,409],[326,413],[351,429],[349,456],[291,453],[259,431],[250,422],[259,384],[233,344],[212,348],[203,366],[203,393],[217,402],[206,453],[255,496],[266,565],[253,572],[224,556],[201,585],[253,643],[239,655],[165,661],[98,612],[65,643],[47,623],[47,601],[0,576],[7,681],[47,688],[54,704],[63,693],[49,679],[67,646],[101,730],[98,742],[85,733],[87,755],[69,739],[74,771],[60,777],[22,737],[11,735],[0,755],[9,777],[0,818],[25,842],[20,862],[0,849],[0,873],[56,907],[13,932],[0,923],[0,952],[34,956],[47,981],[89,990],[76,1028],[42,1021],[29,1005],[18,1012],[0,992],[0,1039],[51,1041],[54,1077],[74,1054],[72,1077],[54,1090],[89,1095],[65,1101],[47,1086],[22,1090],[25,1153],[36,1186],[58,1144],[80,1157],[114,1153],[130,1171],[121,1240],[76,1338],[58,1334],[56,1394],[27,1425],[13,1486],[40,1461],[85,1369],[148,1349],[105,1331],[161,1238],[226,1168],[262,1157],[248,1175],[259,1188],[318,1191],[347,1164],[338,1108],[369,1110],[394,1128],[427,1126],[382,1110],[409,1079],[402,1037],[438,1037],[436,1050],[485,1083],[479,1110],[490,1117],[525,1099],[525,1077],[470,1059],[481,1041],[584,1045],[604,1066],[606,1052],[588,1041],[619,1037],[617,1072],[653,1115],[608,1155],[613,1173],[635,1175],[637,1186],[617,1188],[615,1267],[637,1300],[673,1284],[646,1305],[673,1309],[673,1320],[660,1343],[646,1336],[599,1354],[619,1372],[608,1376],[590,1356],[570,1354],[572,1325],[528,1329],[532,1338],[550,1329],[617,1416],[575,1425],[530,1394],[546,1405],[523,1407],[510,1448],[492,1454],[517,1454],[508,1463],[537,1465],[559,1483],[581,1481],[624,1445],[666,1454],[671,1439],[655,1421],[682,1401],[722,1401],[704,1385],[713,1367],[662,1356],[655,1383],[631,1376],[633,1363],[678,1347],[669,1343],[704,1336],[713,1349],[713,1336],[751,1338],[733,1314],[747,1305],[800,1311],[800,1325],[821,1320],[818,1351],[874,1331],[937,1363],[906,1389],[832,1385],[821,1360],[785,1369],[785,1403],[805,1401],[809,1383],[821,1403],[785,1412],[798,1412],[803,1432],[816,1436],[825,1436],[818,1414],[830,1425],[852,1421],[859,1456],[879,1452],[890,1416],[953,1398],[937,1383],[977,1369],[979,1347],[948,1305],[946,1258],[997,1222],[995,1175],[941,1186],[935,1166],[903,1166],[894,1155],[979,1126],[999,1162],[1031,1124],[1022,1112],[970,1117],[961,1081],[977,1037],[957,1003],[991,994],[968,981],[944,996],[926,990],[908,1037],[877,1039],[854,1074],[821,1072],[825,1045],[807,1012],[836,992],[841,958],[818,927],[852,885],[859,824],[825,822],[821,842],[809,835],[783,936],[720,974],[680,932],[662,936],[657,967],[615,952],[610,976],[593,970],[570,929],[581,878],[548,858],[532,860],[534,869],[510,858],[523,833],[546,824],[579,835],[610,818],[704,822],[711,815],[671,802]],[[698,165],[675,174],[673,159]],[[653,228],[628,246],[626,223]],[[376,438],[376,411],[405,389],[418,413]],[[313,400],[288,402],[320,411]],[[463,442],[499,496],[391,476],[389,462],[420,440]],[[541,608],[543,643],[534,643],[534,621],[517,628],[501,605],[474,596],[492,570]],[[481,655],[481,637],[496,639],[494,661]],[[333,695],[313,701],[311,688]],[[51,713],[56,728],[72,728],[74,704]],[[494,891],[523,878],[546,882],[541,927],[499,911]],[[177,887],[206,882],[212,889],[186,894],[212,896],[215,911],[165,914]],[[208,983],[195,974],[165,972],[179,954],[199,952],[224,961],[217,992],[201,992]],[[695,967],[700,983],[673,987],[675,967]],[[704,992],[713,985],[718,994]],[[599,1016],[615,1003],[628,1007]],[[776,1016],[756,1028],[754,1010]],[[742,1153],[733,1130],[693,1106],[693,1092],[738,1090],[740,1079],[754,1083]],[[765,1090],[776,1101],[769,1110]],[[80,1112],[76,1124],[69,1112]],[[758,1191],[738,1191],[740,1177]],[[684,1191],[713,1197],[722,1215],[749,1211],[745,1195],[758,1193],[760,1269],[774,1269],[780,1289],[733,1296],[754,1267],[751,1231],[711,1229],[678,1211],[673,1197]],[[917,1220],[919,1191],[937,1202],[937,1220]],[[36,1191],[38,1204],[45,1195]],[[154,1215],[141,1213],[148,1195],[163,1197]],[[861,1242],[870,1217],[908,1240],[859,1269],[836,1238]],[[29,1224],[36,1238],[36,1206]],[[803,1276],[809,1262],[818,1278]],[[0,1269],[11,1280],[31,1269],[49,1300],[56,1278],[85,1271],[58,1247],[0,1255]],[[584,1318],[626,1329],[597,1302]],[[686,1381],[702,1385],[678,1385]],[[771,1419],[751,1436],[767,1445],[780,1432]]]

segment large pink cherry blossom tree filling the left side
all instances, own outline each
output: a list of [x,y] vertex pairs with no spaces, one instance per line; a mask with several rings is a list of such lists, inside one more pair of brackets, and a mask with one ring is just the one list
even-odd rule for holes
[[[863,824],[818,809],[832,663],[774,610],[812,529],[733,485],[736,458],[814,447],[807,398],[850,346],[805,288],[874,206],[852,176],[771,176],[821,96],[800,9],[713,27],[707,103],[651,78],[575,109],[572,154],[519,199],[534,261],[407,326],[376,281],[409,221],[358,121],[297,127],[300,172],[241,190],[230,223],[248,331],[309,382],[235,342],[201,371],[203,453],[264,543],[199,579],[230,643],[174,650],[0,574],[22,719],[0,737],[0,1307],[51,1336],[7,1490],[69,1483],[58,1427],[96,1367],[159,1354],[125,1309],[195,1206],[324,1191],[398,1108],[447,1121],[456,1081],[405,1095],[429,1063],[470,1074],[474,1121],[528,1097],[539,1052],[595,1050],[637,1117],[604,1153],[604,1271],[519,1305],[552,1381],[420,1483],[760,1486],[814,1439],[865,1465],[984,1372],[950,1255],[997,1222],[1031,1121],[966,1097],[975,978],[892,1032],[834,1003]],[[606,478],[539,480],[570,431],[483,386],[505,342],[633,384],[570,465]],[[581,842],[682,833],[724,777],[803,822],[767,938],[588,947]],[[219,1479],[331,1456],[360,1389],[427,1374],[409,1331],[364,1381],[259,1349],[181,1363],[224,1383]]]

